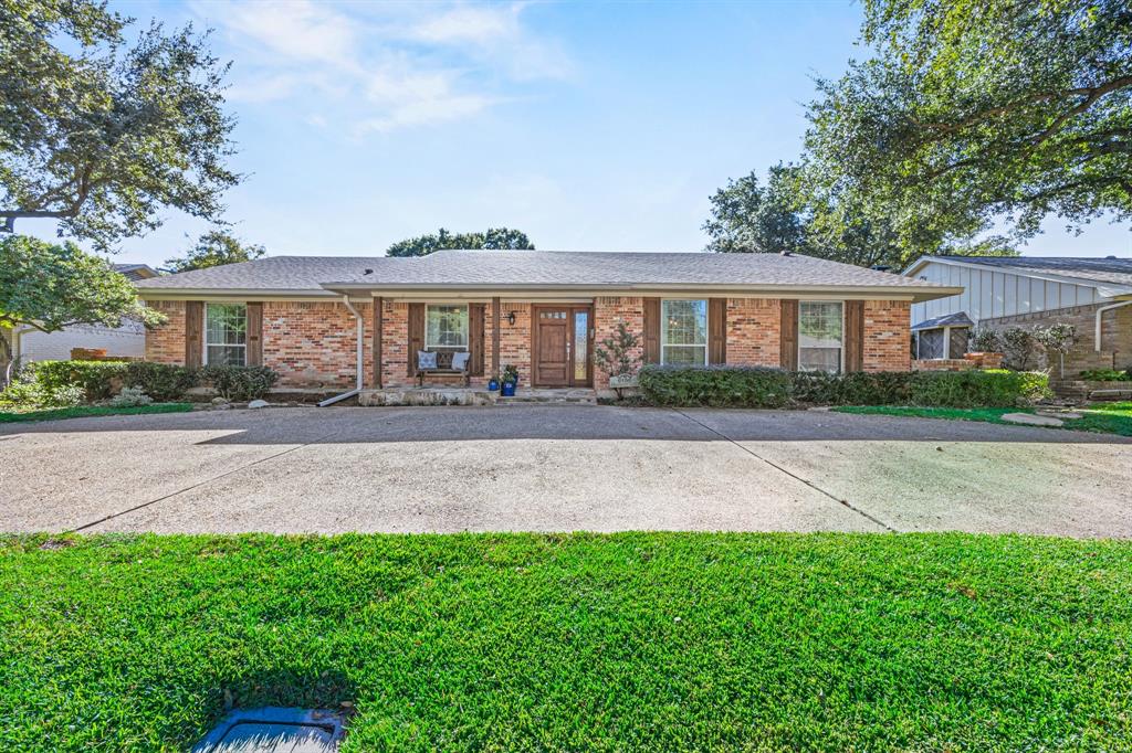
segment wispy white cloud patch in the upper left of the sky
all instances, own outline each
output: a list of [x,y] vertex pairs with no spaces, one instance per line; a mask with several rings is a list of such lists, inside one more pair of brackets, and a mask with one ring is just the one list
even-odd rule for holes
[[525,27],[518,3],[194,8],[234,50],[232,99],[314,94],[351,136],[466,120],[516,99],[511,87],[572,72],[556,44]]

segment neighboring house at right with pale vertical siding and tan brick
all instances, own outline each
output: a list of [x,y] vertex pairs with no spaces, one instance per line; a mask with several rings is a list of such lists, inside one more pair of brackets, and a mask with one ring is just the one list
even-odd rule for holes
[[963,288],[912,305],[919,357],[962,357],[974,327],[1063,322],[1077,329],[1066,375],[1132,367],[1132,258],[923,257],[904,275]]

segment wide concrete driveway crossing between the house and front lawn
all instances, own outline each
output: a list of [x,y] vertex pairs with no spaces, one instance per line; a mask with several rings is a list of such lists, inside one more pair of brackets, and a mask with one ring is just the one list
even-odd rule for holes
[[825,412],[281,408],[0,427],[0,530],[1132,537],[1132,440]]

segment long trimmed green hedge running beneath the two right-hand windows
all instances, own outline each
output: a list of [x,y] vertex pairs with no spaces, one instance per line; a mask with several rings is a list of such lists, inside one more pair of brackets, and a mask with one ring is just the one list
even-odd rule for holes
[[1009,408],[1050,396],[1041,372],[787,372],[741,366],[655,366],[641,370],[642,396],[659,406],[781,408],[809,405],[908,405]]

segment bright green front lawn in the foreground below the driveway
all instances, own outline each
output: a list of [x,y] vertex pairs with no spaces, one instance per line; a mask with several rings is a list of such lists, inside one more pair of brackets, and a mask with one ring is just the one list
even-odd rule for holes
[[0,539],[0,750],[1132,747],[1132,543],[621,534]]

